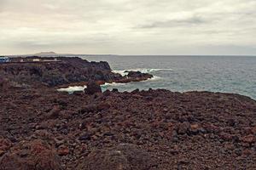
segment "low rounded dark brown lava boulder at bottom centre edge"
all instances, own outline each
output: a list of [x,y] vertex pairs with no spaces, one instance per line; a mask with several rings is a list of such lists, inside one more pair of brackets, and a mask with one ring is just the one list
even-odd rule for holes
[[109,150],[92,151],[77,169],[148,170],[154,166],[154,158],[136,144],[119,144]]

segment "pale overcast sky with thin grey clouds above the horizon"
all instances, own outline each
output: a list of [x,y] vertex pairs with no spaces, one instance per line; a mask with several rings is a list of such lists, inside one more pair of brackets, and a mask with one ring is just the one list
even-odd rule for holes
[[255,0],[0,0],[0,54],[256,55]]

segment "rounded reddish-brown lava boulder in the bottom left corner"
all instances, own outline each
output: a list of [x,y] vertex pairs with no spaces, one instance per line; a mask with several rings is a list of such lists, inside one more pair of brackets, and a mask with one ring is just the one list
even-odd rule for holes
[[1,170],[60,170],[61,161],[55,149],[43,140],[22,141],[0,160]]

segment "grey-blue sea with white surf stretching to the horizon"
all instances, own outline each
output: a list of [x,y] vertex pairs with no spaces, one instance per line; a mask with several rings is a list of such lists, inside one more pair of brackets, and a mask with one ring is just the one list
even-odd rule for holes
[[118,88],[166,88],[171,91],[211,91],[247,95],[256,99],[256,57],[253,56],[80,56],[108,61],[113,71],[143,71],[154,75],[144,82],[106,84]]

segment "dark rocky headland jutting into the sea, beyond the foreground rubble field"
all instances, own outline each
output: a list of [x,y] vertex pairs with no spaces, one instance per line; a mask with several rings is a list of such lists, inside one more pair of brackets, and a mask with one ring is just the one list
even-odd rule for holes
[[[37,62],[32,62],[33,59],[37,59]],[[118,73],[113,73],[107,62],[89,62],[78,57],[32,56],[12,58],[11,61],[0,64],[0,77],[7,79],[16,87],[68,86],[76,83],[86,84],[90,80],[99,83],[138,82],[153,77],[139,71],[131,71],[127,77],[122,77]]]

